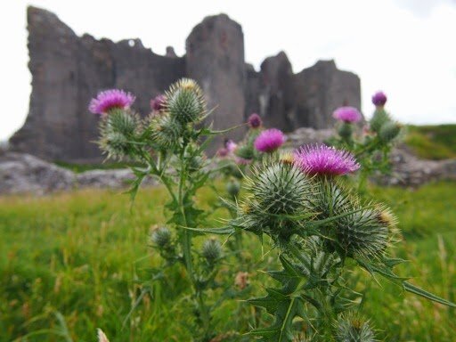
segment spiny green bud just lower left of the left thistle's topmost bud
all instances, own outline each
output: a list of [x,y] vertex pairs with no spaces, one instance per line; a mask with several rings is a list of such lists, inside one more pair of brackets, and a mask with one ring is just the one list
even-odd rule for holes
[[151,141],[154,142],[159,150],[173,149],[180,141],[183,126],[169,113],[154,116],[151,118]]

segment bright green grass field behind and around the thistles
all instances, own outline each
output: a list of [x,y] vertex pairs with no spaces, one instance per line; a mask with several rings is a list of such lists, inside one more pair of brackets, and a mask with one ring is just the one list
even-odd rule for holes
[[[416,191],[372,188],[371,193],[399,217],[404,240],[394,254],[411,263],[398,272],[455,301],[456,183]],[[159,266],[147,237],[151,225],[165,221],[165,197],[161,188],[143,190],[133,212],[128,197],[113,191],[0,197],[0,341],[95,341],[98,327],[111,342],[191,340],[185,329],[191,308],[185,298],[175,297],[187,286],[179,268],[155,283],[151,296],[138,300],[142,281]],[[200,198],[204,206],[216,195],[203,191]],[[248,238],[247,244],[246,253],[261,259],[258,240]],[[251,270],[256,293],[270,281],[259,271],[274,265],[273,255]],[[363,311],[381,338],[455,340],[454,309],[404,294],[385,281],[378,284],[365,273],[354,273],[352,281],[365,292]],[[138,308],[128,315],[136,301]],[[238,322],[241,311],[253,313],[253,308],[233,300],[217,310],[216,319],[224,331],[239,326],[243,333],[248,322]]]

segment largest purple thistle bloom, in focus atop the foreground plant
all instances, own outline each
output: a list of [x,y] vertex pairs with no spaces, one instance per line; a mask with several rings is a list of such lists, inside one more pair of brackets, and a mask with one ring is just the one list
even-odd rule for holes
[[360,165],[349,151],[326,145],[306,145],[295,151],[295,164],[309,175],[346,175]]

